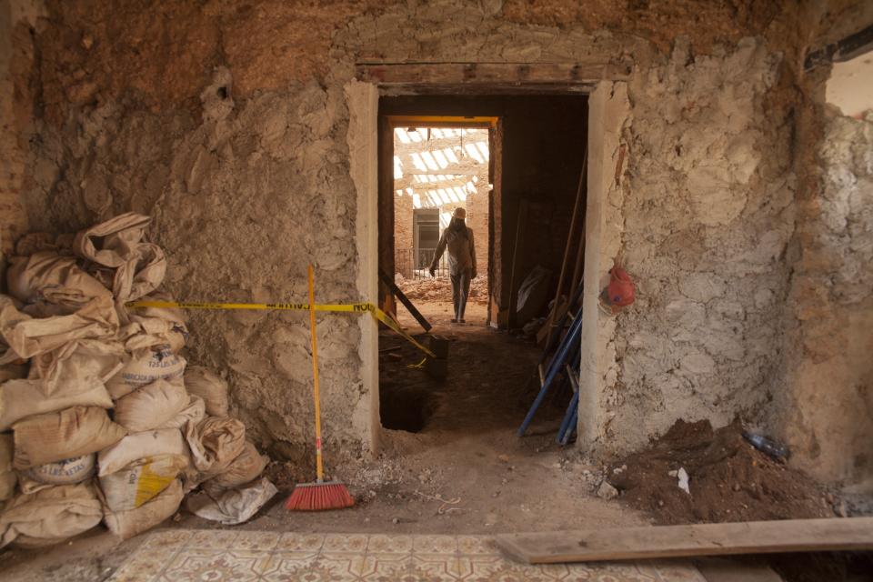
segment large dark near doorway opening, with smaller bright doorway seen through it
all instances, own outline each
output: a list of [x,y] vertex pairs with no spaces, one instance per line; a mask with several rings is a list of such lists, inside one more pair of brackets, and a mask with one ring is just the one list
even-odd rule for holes
[[[414,346],[380,333],[382,426],[511,434],[537,394],[537,330],[557,293],[574,209],[585,208],[587,95],[381,96],[378,142],[379,269],[433,326],[429,335],[449,344],[440,380],[416,367],[424,355]],[[429,274],[458,207],[477,256],[463,325],[451,321],[447,256]],[[379,303],[425,336],[384,283]],[[568,398],[555,396],[537,422],[559,423]]]

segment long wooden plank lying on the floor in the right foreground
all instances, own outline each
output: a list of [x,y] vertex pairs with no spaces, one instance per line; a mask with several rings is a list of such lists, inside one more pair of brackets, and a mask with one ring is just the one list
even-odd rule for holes
[[504,534],[497,545],[530,564],[655,557],[873,549],[873,517]]

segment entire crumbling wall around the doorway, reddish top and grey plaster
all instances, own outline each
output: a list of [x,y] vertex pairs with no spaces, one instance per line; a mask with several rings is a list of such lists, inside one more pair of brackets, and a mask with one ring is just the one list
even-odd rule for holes
[[[330,10],[144,2],[124,18],[108,0],[75,4],[50,3],[37,35],[45,110],[28,215],[35,228],[69,230],[122,210],[151,213],[168,286],[191,300],[300,299],[309,260],[320,301],[366,298],[357,202],[370,178],[351,177],[344,94],[357,60],[632,57],[608,224],[639,294],[601,322],[605,414],[591,440],[637,447],[678,417],[723,424],[740,413],[767,426],[794,225],[791,121],[778,99],[764,115],[785,82],[780,52],[797,56],[785,6],[771,14],[760,8],[768,3],[740,2],[739,20],[709,11],[700,25],[689,2],[659,19],[612,2],[562,15],[566,3],[544,2],[533,24],[523,3],[490,0]],[[657,33],[645,29],[653,22]],[[748,32],[775,40],[740,40]],[[690,44],[667,42],[681,33]],[[194,56],[174,58],[186,50]],[[225,371],[251,434],[303,455],[303,316],[196,313],[191,327],[191,360]],[[355,454],[377,418],[362,380],[373,376],[363,362],[372,346],[359,350],[363,328],[346,316],[325,317],[318,331],[326,434]]]

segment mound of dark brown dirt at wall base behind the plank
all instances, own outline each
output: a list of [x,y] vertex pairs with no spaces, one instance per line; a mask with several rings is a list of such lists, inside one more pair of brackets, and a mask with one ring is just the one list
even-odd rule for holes
[[[678,487],[681,468],[689,493]],[[660,524],[834,515],[815,481],[752,447],[737,420],[716,431],[708,420],[677,420],[646,450],[612,463],[608,476],[620,499]]]

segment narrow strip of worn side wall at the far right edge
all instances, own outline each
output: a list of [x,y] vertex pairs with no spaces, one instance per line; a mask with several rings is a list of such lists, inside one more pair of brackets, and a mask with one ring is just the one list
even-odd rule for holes
[[780,432],[796,462],[873,493],[873,112],[829,107],[798,213]]

